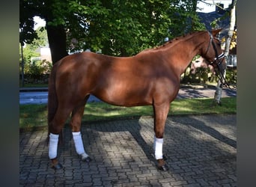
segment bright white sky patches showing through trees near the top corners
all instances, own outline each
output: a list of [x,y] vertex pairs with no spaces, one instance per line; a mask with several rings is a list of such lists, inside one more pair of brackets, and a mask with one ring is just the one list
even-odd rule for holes
[[[222,0],[222,1],[216,1],[216,0],[206,0],[207,3],[213,4],[213,3],[222,3],[224,4],[224,7],[228,7],[229,4],[231,4],[232,0]],[[204,2],[198,1],[198,7],[203,8],[203,10],[198,10],[198,12],[213,12],[215,10],[215,5],[207,5]],[[40,19],[38,16],[34,16],[34,30],[36,30],[38,27],[45,26],[46,22],[43,19]]]

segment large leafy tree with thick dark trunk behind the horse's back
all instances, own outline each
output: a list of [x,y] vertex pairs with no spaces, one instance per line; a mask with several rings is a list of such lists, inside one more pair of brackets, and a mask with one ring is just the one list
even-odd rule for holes
[[[189,0],[23,0],[20,1],[21,43],[36,37],[33,17],[46,20],[52,61],[81,49],[106,55],[135,55],[165,37],[201,30],[197,1]],[[182,23],[182,24],[180,24]],[[188,26],[189,25],[189,26]]]

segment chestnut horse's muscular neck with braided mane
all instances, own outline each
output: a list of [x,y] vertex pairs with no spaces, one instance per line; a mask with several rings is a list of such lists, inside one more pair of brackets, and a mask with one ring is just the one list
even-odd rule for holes
[[[179,41],[180,40],[180,41]],[[201,32],[178,38],[173,44],[166,46],[168,64],[175,70],[177,76],[180,76],[189,66],[195,55],[201,54],[204,40],[201,38]]]

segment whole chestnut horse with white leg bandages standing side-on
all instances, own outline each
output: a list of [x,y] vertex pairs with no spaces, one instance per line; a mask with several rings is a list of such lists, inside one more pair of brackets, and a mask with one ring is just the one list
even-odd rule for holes
[[62,168],[57,159],[58,138],[70,113],[76,153],[83,161],[91,161],[85,153],[80,129],[85,103],[92,94],[112,105],[153,106],[154,155],[157,168],[167,171],[168,166],[162,155],[165,120],[170,103],[179,91],[180,75],[198,54],[213,67],[225,69],[220,41],[216,39],[220,30],[186,34],[132,57],[81,52],[54,64],[48,96],[49,159],[52,168]]

